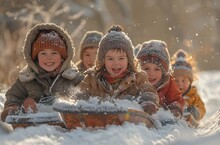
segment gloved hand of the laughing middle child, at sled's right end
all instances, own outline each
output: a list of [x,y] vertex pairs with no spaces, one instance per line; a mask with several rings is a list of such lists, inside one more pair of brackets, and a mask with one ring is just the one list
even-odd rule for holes
[[155,114],[159,110],[158,106],[150,101],[141,103],[141,106],[149,115]]

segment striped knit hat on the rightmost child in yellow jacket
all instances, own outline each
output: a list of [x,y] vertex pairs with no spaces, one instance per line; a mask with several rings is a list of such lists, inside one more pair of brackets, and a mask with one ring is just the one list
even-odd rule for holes
[[174,54],[173,75],[175,76],[186,76],[189,78],[190,82],[193,82],[193,71],[192,65],[190,64],[190,59],[184,50],[180,49]]

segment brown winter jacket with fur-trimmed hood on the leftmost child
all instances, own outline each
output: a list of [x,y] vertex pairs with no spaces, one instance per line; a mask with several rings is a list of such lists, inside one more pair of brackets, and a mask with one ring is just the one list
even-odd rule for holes
[[[39,77],[38,66],[31,59],[31,47],[40,30],[51,29],[59,33],[65,41],[68,57],[64,60],[56,77],[42,79]],[[6,92],[4,109],[11,105],[21,106],[24,99],[28,97],[34,98],[38,102],[42,97],[48,95],[59,94],[67,96],[71,94],[71,88],[74,88],[83,79],[75,64],[71,62],[74,55],[72,40],[68,33],[59,26],[46,23],[33,27],[26,36],[23,53],[27,61],[27,66],[19,72],[18,79]]]

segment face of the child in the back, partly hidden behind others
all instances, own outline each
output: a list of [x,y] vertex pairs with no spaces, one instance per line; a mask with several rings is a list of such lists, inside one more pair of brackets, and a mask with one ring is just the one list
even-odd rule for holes
[[86,69],[94,66],[97,48],[86,48],[83,52],[82,61]]

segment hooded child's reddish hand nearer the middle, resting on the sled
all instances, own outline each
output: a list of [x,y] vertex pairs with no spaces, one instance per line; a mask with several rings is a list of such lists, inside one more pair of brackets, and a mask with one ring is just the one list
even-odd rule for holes
[[24,100],[23,109],[25,113],[35,113],[37,111],[37,104],[32,98]]

